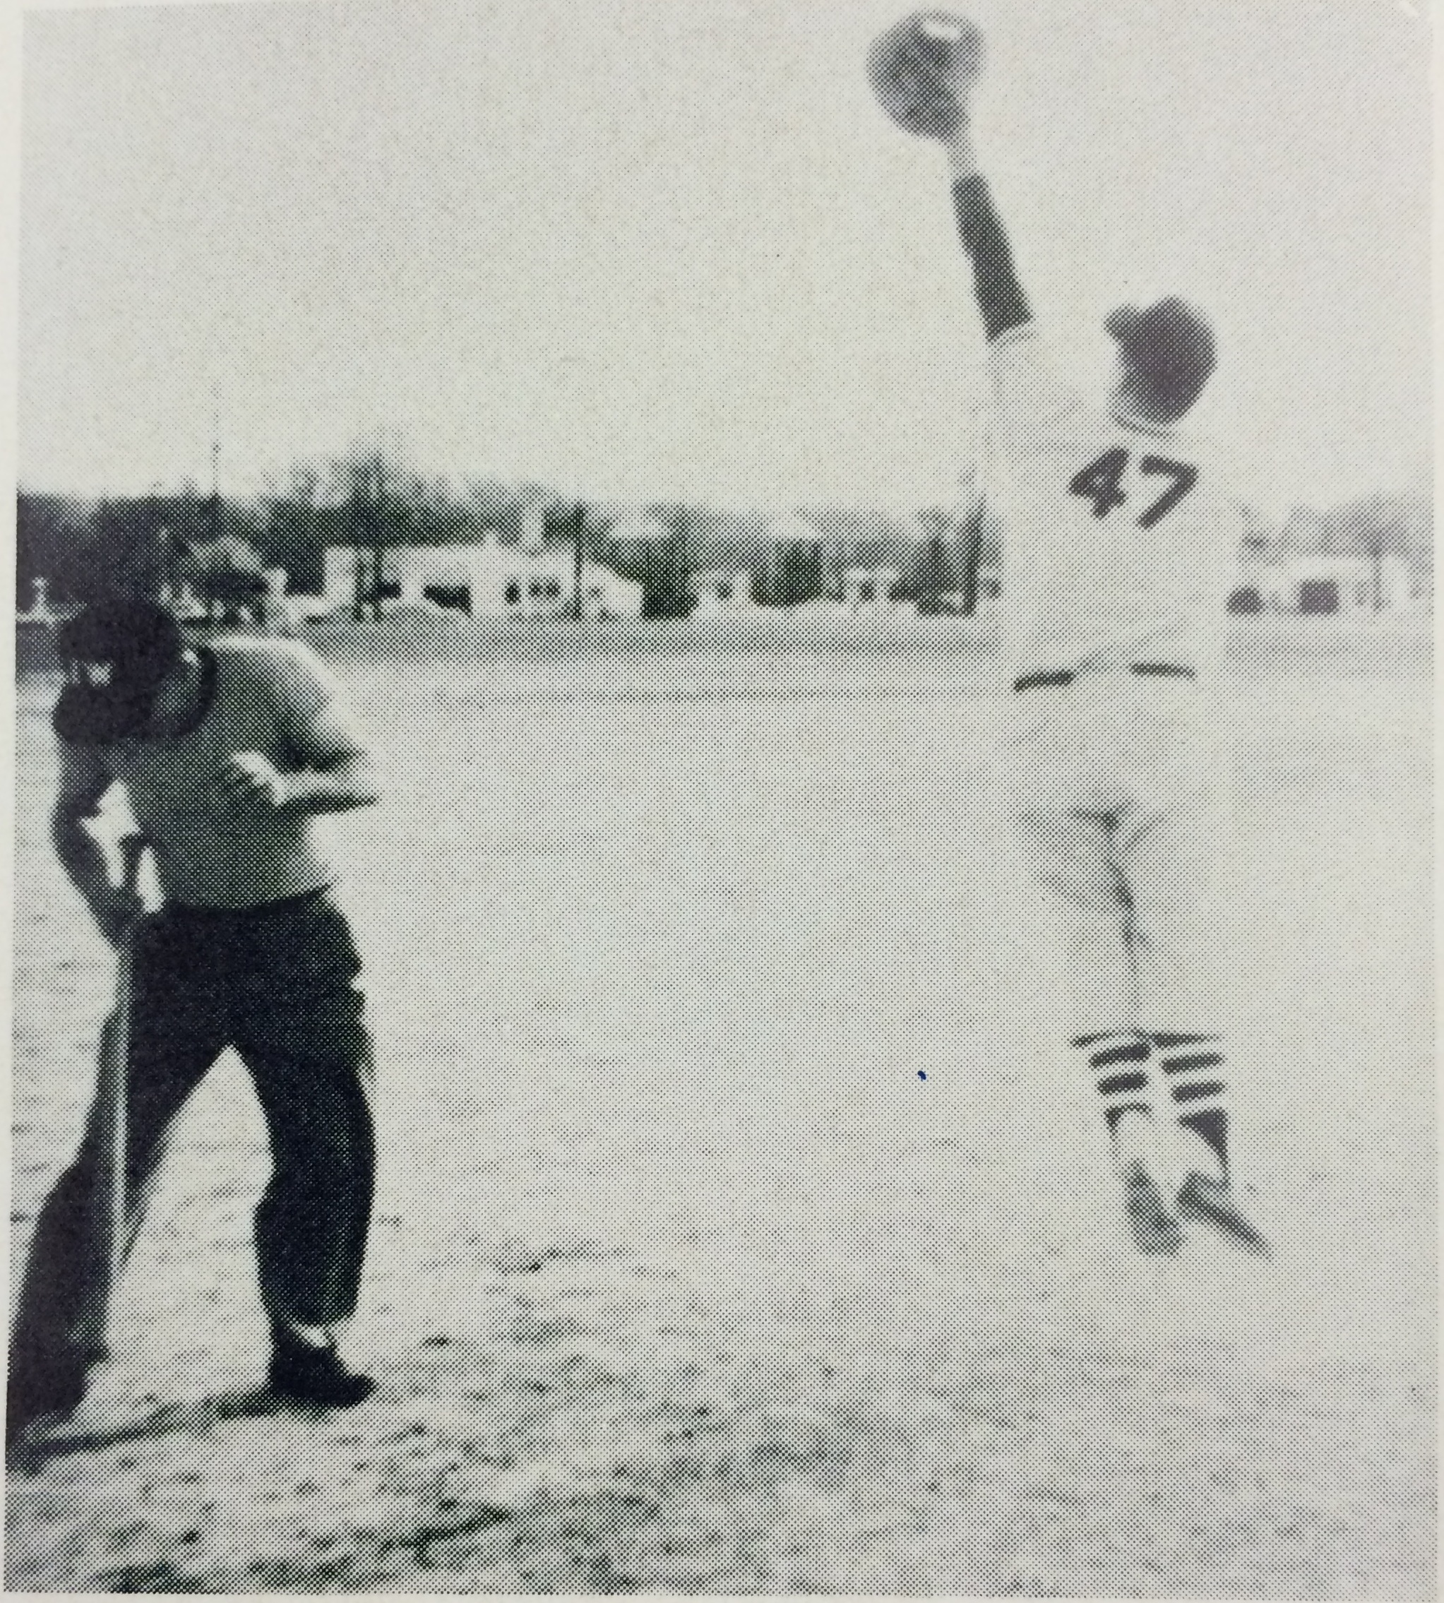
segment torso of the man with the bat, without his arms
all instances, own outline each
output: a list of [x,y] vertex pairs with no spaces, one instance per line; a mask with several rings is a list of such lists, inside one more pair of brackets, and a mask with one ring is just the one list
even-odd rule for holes
[[208,705],[192,728],[170,739],[122,741],[106,750],[106,768],[125,785],[155,846],[171,901],[248,907],[316,890],[332,870],[305,814],[252,814],[215,802],[216,781],[239,752],[260,752],[282,771],[296,763],[266,657],[218,643],[213,664]]

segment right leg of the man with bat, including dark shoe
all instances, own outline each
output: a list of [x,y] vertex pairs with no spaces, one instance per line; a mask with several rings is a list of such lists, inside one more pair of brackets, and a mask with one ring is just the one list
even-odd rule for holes
[[356,1310],[375,1189],[375,1068],[361,962],[327,898],[263,914],[242,939],[237,1045],[274,1164],[256,1209],[271,1383],[282,1395],[349,1406],[372,1391],[338,1351]]

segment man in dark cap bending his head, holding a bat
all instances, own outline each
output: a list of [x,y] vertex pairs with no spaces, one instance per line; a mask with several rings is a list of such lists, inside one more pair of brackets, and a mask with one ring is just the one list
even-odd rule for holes
[[[308,648],[186,644],[149,601],[98,603],[59,630],[54,710],[61,862],[109,939],[135,917],[87,821],[119,784],[151,842],[165,906],[139,920],[127,1060],[125,1247],[167,1133],[226,1047],[255,1082],[274,1167],[256,1210],[276,1393],[349,1406],[345,1366],[370,1221],[372,1042],[361,962],[311,818],[377,800],[372,761]],[[98,1112],[35,1225],[11,1332],[6,1441],[85,1395]]]

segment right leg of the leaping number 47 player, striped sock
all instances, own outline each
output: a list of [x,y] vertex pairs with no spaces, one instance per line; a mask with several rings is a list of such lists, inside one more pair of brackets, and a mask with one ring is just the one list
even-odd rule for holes
[[1268,1246],[1232,1186],[1221,814],[1207,792],[1160,806],[1123,842],[1143,1007],[1183,1146],[1180,1209],[1252,1252]]

